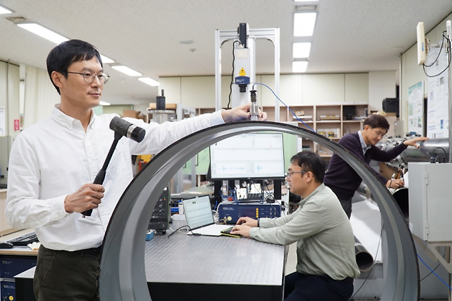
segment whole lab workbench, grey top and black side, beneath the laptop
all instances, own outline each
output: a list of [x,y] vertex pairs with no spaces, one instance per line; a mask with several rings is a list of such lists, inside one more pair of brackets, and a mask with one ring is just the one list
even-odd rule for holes
[[[283,245],[179,232],[168,238],[169,233],[146,242],[146,281],[152,301],[282,300]],[[34,268],[15,277],[17,301],[32,301],[23,296],[32,291],[33,275]]]

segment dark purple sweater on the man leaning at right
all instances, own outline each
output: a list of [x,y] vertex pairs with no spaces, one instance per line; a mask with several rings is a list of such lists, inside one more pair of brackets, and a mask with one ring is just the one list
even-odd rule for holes
[[[372,145],[372,147],[365,152],[365,156],[363,156],[363,147],[361,147],[358,132],[346,134],[339,140],[339,144],[348,149],[367,165],[370,163],[370,160],[381,162],[390,161],[407,148],[403,143],[400,143],[388,152],[383,152],[378,147]],[[375,172],[375,175],[380,178],[383,184],[386,184],[387,180],[381,176],[381,174]],[[346,161],[342,160],[337,154],[332,155],[330,165],[325,173],[324,183],[336,193],[339,200],[348,200],[350,197],[353,197],[354,191],[358,189],[361,181],[361,177]]]

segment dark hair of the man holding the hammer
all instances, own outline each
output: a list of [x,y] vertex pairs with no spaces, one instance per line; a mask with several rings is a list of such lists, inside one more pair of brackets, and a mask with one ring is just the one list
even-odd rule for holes
[[[57,71],[67,78],[67,68],[73,63],[80,60],[91,60],[91,58],[98,58],[100,66],[102,66],[102,58],[100,58],[100,53],[98,49],[87,42],[82,40],[68,40],[56,46],[49,52],[47,56],[47,72],[49,73],[50,81],[54,84],[52,80],[52,72]],[[103,68],[103,66],[102,66]],[[58,94],[60,93],[60,88],[54,84]]]

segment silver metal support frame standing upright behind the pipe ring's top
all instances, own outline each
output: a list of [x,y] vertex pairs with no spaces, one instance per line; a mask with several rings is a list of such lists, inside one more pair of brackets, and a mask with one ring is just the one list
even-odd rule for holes
[[[249,29],[248,39],[256,40],[265,38],[273,42],[275,47],[275,87],[273,91],[276,95],[280,93],[280,29],[263,28]],[[237,30],[215,30],[215,109],[221,110],[221,47],[228,40],[238,40]],[[252,45],[255,45],[253,43]],[[256,79],[256,68],[251,67],[253,72],[250,80]],[[275,99],[275,121],[280,121],[280,103]]]

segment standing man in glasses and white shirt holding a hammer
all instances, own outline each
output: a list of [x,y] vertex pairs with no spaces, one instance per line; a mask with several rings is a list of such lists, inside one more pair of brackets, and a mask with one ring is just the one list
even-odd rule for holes
[[[146,130],[144,140],[121,139],[104,183],[92,184],[114,136],[109,125],[115,115],[93,112],[109,74],[98,50],[81,40],[52,49],[47,71],[61,101],[52,117],[21,132],[12,145],[5,215],[13,228],[34,228],[41,242],[33,283],[36,300],[99,300],[100,245],[133,178],[131,155],[155,154],[197,130],[247,120],[249,105],[174,123],[126,119]],[[259,116],[267,119],[265,113]],[[80,214],[90,209],[90,217]]]

